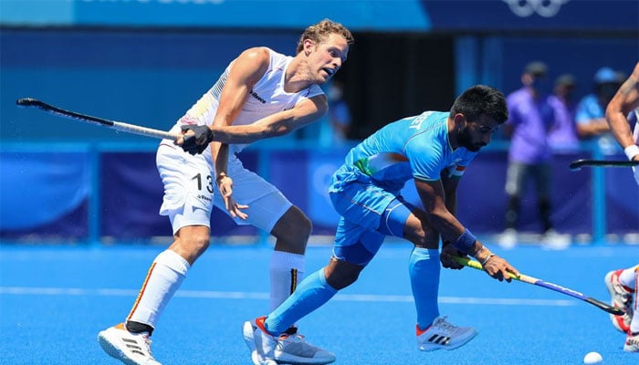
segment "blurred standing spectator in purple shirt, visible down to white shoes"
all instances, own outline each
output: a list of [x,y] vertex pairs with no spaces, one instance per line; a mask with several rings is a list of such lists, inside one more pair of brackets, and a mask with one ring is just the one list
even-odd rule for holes
[[508,207],[506,230],[500,244],[512,247],[517,243],[517,224],[526,183],[535,183],[539,219],[545,238],[556,234],[550,222],[550,148],[548,133],[554,123],[554,112],[548,98],[541,95],[539,84],[546,78],[548,67],[543,62],[530,62],[521,75],[523,87],[508,95],[508,121],[504,134],[510,138],[506,193]]

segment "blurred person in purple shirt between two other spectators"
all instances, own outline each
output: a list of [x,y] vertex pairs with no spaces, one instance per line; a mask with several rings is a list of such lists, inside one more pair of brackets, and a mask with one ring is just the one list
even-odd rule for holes
[[574,89],[575,78],[571,74],[563,74],[555,80],[553,94],[548,97],[555,119],[548,135],[548,143],[550,150],[556,153],[579,151],[579,136],[574,119],[576,108],[572,101]]

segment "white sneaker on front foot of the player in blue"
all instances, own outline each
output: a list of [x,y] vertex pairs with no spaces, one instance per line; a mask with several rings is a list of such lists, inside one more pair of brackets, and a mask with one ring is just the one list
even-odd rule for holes
[[448,323],[445,317],[437,317],[425,330],[417,331],[417,346],[422,351],[435,349],[457,349],[477,336],[477,330],[470,327],[456,327]]

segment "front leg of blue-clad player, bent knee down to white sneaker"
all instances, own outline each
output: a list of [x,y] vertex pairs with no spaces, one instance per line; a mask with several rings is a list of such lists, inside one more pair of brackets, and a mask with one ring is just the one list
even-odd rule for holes
[[417,311],[418,349],[456,349],[465,345],[477,331],[453,326],[439,313],[439,234],[428,224],[425,212],[398,199],[386,209],[382,221],[387,227],[384,234],[403,236],[415,245],[408,272]]

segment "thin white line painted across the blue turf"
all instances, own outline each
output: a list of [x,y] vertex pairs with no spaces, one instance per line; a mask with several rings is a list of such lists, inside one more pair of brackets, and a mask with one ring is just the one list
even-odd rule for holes
[[[34,295],[34,296],[100,296],[100,297],[136,297],[133,289],[82,289],[77,287],[0,287],[0,295]],[[175,297],[199,297],[211,299],[268,299],[268,293],[240,291],[208,291],[179,290]],[[348,302],[409,302],[412,296],[372,295],[372,294],[338,294],[333,300]],[[500,306],[543,306],[569,307],[575,306],[573,300],[554,299],[516,299],[500,297],[439,297],[440,303],[446,304],[484,304]]]

